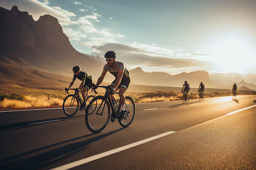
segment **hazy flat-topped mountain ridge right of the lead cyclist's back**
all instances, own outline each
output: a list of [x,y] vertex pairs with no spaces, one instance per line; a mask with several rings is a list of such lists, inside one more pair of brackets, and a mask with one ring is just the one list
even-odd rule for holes
[[171,75],[164,72],[144,72],[141,68],[130,70],[131,84],[137,85],[155,85],[182,88],[184,81],[187,81],[191,88],[198,88],[200,82],[203,82],[207,88],[227,88],[215,85],[209,80],[207,71],[194,71],[190,73],[181,73]]

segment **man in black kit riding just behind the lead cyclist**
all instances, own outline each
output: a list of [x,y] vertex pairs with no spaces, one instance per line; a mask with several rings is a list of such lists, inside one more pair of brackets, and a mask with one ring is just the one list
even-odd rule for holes
[[81,91],[81,94],[83,96],[83,99],[84,99],[84,103],[81,104],[80,106],[80,109],[84,109],[85,106],[86,106],[86,96],[85,96],[85,93],[87,91],[90,90],[90,88],[92,87],[92,84],[93,84],[93,77],[90,76],[89,74],[81,71],[81,68],[79,65],[73,67],[73,73],[74,73],[74,77],[73,77],[73,80],[72,82],[70,83],[70,86],[67,88],[66,91],[68,91],[74,84],[74,82],[76,81],[76,79],[79,79],[81,80],[81,85],[79,86],[79,91]]

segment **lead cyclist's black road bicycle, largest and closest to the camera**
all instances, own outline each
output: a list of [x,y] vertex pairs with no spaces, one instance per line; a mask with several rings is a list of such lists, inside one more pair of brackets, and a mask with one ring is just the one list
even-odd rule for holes
[[[106,92],[104,96],[96,96],[89,103],[88,107],[95,107],[92,111],[87,110],[85,113],[85,122],[88,129],[93,133],[99,133],[108,124],[109,118],[111,122],[118,119],[120,115],[121,105],[119,103],[119,108],[115,111],[113,104],[111,102],[110,92],[111,86],[98,86],[98,88],[105,88]],[[94,92],[97,94],[95,89]],[[118,94],[117,92],[113,92]],[[110,114],[111,113],[111,114]],[[122,127],[128,127],[131,125],[135,116],[135,104],[134,100],[130,96],[125,96],[125,117],[123,119],[118,119],[119,124]]]

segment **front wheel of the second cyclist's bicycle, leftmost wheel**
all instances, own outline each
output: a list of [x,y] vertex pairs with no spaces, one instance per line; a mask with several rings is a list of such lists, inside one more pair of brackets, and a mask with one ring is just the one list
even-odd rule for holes
[[74,94],[68,95],[64,99],[62,108],[63,108],[65,115],[67,115],[67,116],[73,116],[74,114],[76,114],[76,112],[78,111],[78,108],[79,108],[79,101],[78,101],[77,96],[75,96]]

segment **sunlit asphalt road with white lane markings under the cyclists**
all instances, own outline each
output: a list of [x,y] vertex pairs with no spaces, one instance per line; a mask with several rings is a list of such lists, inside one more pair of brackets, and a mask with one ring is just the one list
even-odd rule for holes
[[0,169],[256,169],[256,107],[227,115],[256,95],[237,99],[136,104],[129,127],[109,121],[97,134],[84,111],[0,112]]

